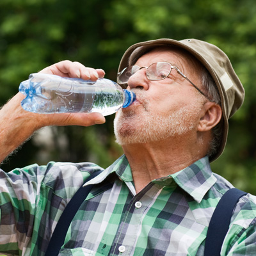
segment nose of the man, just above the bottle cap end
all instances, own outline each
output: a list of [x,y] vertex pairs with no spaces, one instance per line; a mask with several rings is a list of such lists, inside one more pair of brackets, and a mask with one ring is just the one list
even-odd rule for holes
[[148,90],[147,68],[141,67],[135,74],[133,74],[127,83],[129,88],[141,88]]

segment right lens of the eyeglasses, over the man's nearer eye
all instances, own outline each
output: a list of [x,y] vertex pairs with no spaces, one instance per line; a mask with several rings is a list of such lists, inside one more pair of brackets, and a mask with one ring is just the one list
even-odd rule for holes
[[157,62],[151,64],[147,69],[149,80],[162,80],[170,75],[172,66],[168,62]]

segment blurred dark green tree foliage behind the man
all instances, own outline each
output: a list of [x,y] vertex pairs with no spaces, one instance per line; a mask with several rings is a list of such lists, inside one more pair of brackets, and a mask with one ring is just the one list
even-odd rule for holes
[[[1,0],[0,104],[29,74],[61,60],[104,68],[115,80],[131,44],[156,38],[198,38],[218,45],[246,89],[230,120],[224,154],[212,169],[237,188],[256,194],[256,4],[254,0]],[[103,167],[122,154],[114,115],[93,127],[46,127],[1,168],[48,161],[93,161]]]

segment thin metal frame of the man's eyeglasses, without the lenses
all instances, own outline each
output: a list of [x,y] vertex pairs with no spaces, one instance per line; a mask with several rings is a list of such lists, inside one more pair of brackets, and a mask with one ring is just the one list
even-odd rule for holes
[[[156,78],[156,79],[152,79],[152,78],[149,79],[149,78],[148,78],[148,68],[149,68],[150,66],[156,64],[156,63],[167,63],[168,65],[170,65],[170,72],[169,72],[166,76],[164,76],[164,77]],[[209,100],[209,101],[212,102],[212,100],[209,99],[209,97],[208,97],[207,95],[205,95],[205,93],[202,92],[202,91],[198,88],[198,86],[196,86],[190,79],[188,79],[188,77],[186,77],[186,76],[179,70],[179,68],[173,66],[173,65],[172,65],[171,63],[169,63],[169,62],[166,62],[166,61],[154,62],[154,63],[150,64],[148,67],[140,67],[140,66],[138,66],[138,65],[132,65],[132,66],[129,66],[129,67],[138,67],[139,69],[138,69],[136,72],[138,72],[138,71],[141,70],[142,68],[146,68],[146,70],[147,70],[147,71],[146,71],[147,79],[150,80],[150,81],[161,81],[161,80],[165,79],[166,77],[170,76],[170,74],[171,74],[171,72],[172,72],[172,69],[175,69],[175,70],[178,72],[178,74],[180,74],[180,76],[184,77],[196,90],[198,90],[198,92],[200,92],[207,100]],[[118,84],[120,84],[120,85],[125,85],[125,84],[128,83],[128,80],[129,80],[129,79],[127,80],[126,83],[122,83],[122,82],[120,83],[119,77],[120,77],[120,76],[125,72],[125,70],[126,70],[127,68],[129,68],[129,67],[126,67],[126,68],[124,68],[121,72],[118,72],[118,74],[117,74],[117,83],[118,83]],[[134,74],[135,74],[136,72],[134,72]],[[132,74],[132,76],[133,76],[134,74]],[[131,77],[131,76],[130,76],[130,77]],[[129,77],[129,78],[130,78],[130,77]]]

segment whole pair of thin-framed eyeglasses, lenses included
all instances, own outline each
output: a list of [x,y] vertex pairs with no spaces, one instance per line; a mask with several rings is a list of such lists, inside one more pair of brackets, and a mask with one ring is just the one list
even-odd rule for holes
[[159,80],[163,80],[164,78],[168,77],[171,72],[172,69],[177,70],[178,74],[180,74],[182,77],[184,77],[187,81],[189,81],[189,83],[191,83],[196,90],[198,90],[198,92],[200,92],[202,95],[204,95],[204,97],[209,100],[212,101],[211,99],[209,99],[209,97],[207,97],[207,95],[205,95],[205,93],[203,93],[194,83],[192,83],[188,77],[186,77],[180,70],[179,68],[173,66],[172,64],[168,63],[168,62],[156,62],[156,63],[152,63],[151,65],[149,65],[148,67],[139,67],[139,66],[129,66],[124,68],[121,72],[119,72],[117,74],[117,83],[120,85],[124,85],[127,86],[128,80],[131,76],[133,76],[136,72],[138,72],[139,70],[141,70],[141,68],[146,68],[147,69],[147,79],[151,80],[151,81],[159,81]]

